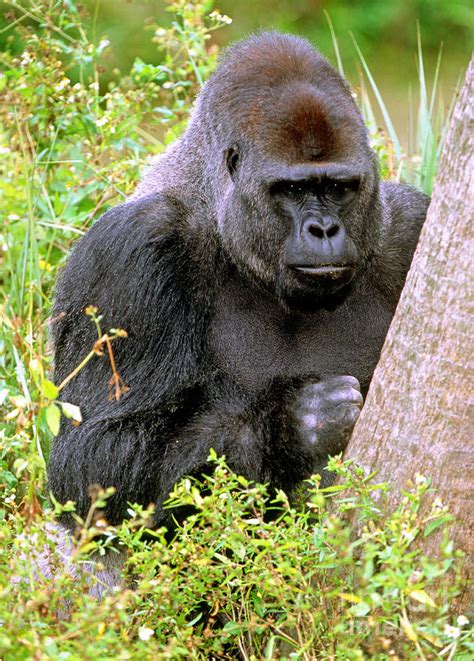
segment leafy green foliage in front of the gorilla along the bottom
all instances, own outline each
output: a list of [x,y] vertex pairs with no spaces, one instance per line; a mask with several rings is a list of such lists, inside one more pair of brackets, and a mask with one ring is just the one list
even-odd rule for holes
[[[427,512],[420,507],[427,480],[418,478],[384,518],[384,489],[337,459],[332,468],[342,484],[320,490],[317,480],[308,483],[300,510],[283,493],[269,505],[265,487],[233,475],[223,459],[212,461],[215,472],[205,485],[184,479],[171,494],[169,506],[194,511],[172,541],[164,530],[145,540],[150,512],[137,507],[129,521],[107,527],[100,508],[110,494],[98,494],[73,563],[80,567],[94,550],[100,559],[106,549],[121,549],[133,585],[100,603],[88,594],[90,575],[73,580],[55,555],[44,521],[25,532],[20,517],[9,519],[0,548],[0,654],[12,660],[469,657],[467,619],[448,613],[457,591],[446,574],[455,566],[452,544],[442,537],[437,560],[416,545],[430,524],[447,517],[440,503]],[[49,547],[54,583],[41,573],[32,583],[31,558]]]

